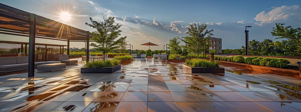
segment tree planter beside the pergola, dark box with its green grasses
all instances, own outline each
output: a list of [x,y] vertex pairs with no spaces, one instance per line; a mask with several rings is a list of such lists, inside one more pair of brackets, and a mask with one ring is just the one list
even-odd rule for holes
[[85,67],[80,69],[80,73],[114,73],[121,69],[120,60],[96,60],[94,62],[88,62]]

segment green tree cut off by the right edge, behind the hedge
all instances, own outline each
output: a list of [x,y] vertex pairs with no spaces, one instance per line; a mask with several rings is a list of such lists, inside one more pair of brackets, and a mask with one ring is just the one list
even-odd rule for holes
[[278,36],[276,39],[284,39],[277,42],[277,47],[284,49],[284,55],[300,57],[301,55],[301,28],[284,27],[284,24],[277,24],[273,27],[272,36]]

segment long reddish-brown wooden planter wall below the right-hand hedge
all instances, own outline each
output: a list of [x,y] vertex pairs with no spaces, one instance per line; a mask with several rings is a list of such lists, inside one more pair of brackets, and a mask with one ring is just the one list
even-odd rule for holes
[[276,74],[276,75],[301,79],[300,71],[297,70],[289,70],[283,68],[266,67],[266,66],[250,65],[244,63],[235,63],[235,62],[226,62],[226,61],[217,61],[217,62],[219,62],[219,65],[225,65],[228,67],[237,67],[241,69],[247,69],[247,70],[253,70],[253,71],[258,71],[263,73]]

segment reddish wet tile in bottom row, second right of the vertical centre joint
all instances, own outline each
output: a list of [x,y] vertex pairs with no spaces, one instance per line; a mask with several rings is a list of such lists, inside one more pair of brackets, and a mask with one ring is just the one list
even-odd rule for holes
[[210,112],[202,102],[175,102],[180,112]]

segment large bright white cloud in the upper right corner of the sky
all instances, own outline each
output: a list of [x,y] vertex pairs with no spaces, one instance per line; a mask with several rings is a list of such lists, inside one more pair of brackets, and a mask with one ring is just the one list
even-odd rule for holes
[[281,7],[272,7],[273,10],[266,13],[265,11],[260,12],[256,15],[254,18],[256,21],[261,21],[257,23],[257,25],[262,26],[265,23],[271,23],[275,20],[279,19],[288,19],[288,17],[296,15],[297,12],[299,12],[299,5],[293,5],[293,6],[281,6]]

